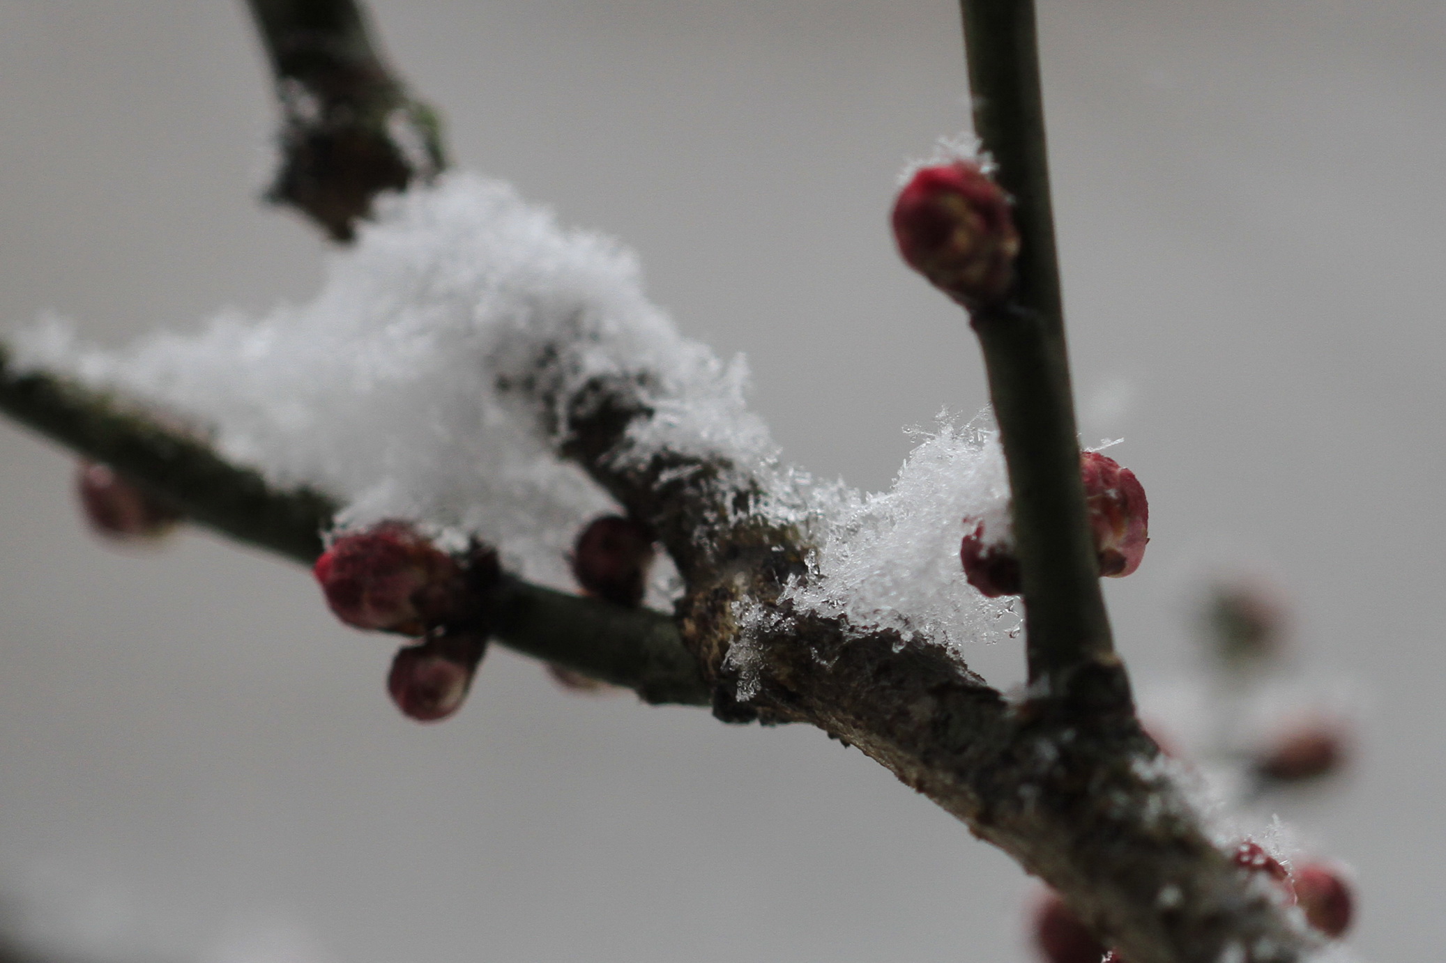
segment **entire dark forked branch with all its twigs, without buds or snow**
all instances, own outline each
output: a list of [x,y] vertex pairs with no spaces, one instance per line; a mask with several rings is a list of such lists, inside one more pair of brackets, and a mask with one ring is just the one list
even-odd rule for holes
[[[286,111],[276,195],[346,240],[377,191],[441,168],[435,124],[431,146],[411,155],[425,163],[385,174],[376,158],[409,156],[385,119],[424,114],[376,56],[356,4],[250,6]],[[1024,239],[1014,298],[973,324],[1014,490],[1031,698],[1006,700],[941,645],[899,645],[892,632],[782,602],[811,547],[755,510],[763,480],[706,457],[633,450],[629,428],[652,418],[642,382],[535,401],[565,412],[549,425],[558,453],[658,532],[685,583],[675,616],[515,578],[483,604],[509,646],[648,701],[711,703],[726,722],[810,723],[857,746],[1058,889],[1131,963],[1213,963],[1232,947],[1241,963],[1304,959],[1314,937],[1212,844],[1135,719],[1084,522],[1032,3],[963,0],[963,16],[976,126]],[[298,90],[320,98],[320,113]],[[359,130],[389,146],[335,149]],[[64,379],[17,373],[3,351],[0,409],[239,541],[302,562],[321,548],[327,496],[275,490],[204,438]]]

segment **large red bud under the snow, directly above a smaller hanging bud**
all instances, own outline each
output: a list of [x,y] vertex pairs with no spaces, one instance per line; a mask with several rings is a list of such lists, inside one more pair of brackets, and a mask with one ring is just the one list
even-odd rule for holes
[[327,604],[357,629],[419,635],[463,594],[461,567],[405,522],[343,535],[312,568]]

